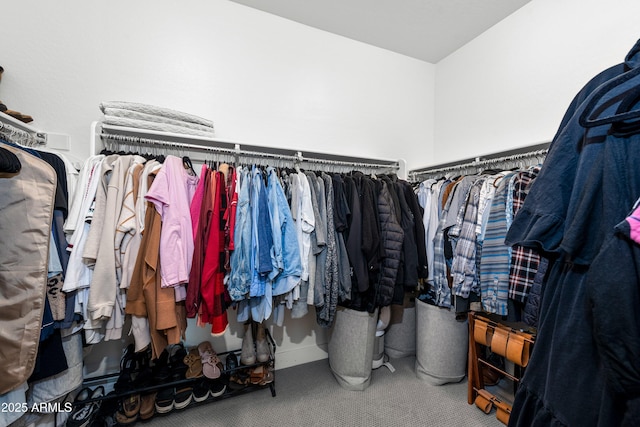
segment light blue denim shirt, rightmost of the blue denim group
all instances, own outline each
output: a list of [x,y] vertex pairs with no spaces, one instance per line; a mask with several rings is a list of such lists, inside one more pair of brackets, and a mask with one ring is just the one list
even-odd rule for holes
[[291,291],[300,283],[302,260],[300,259],[298,237],[291,210],[284,195],[284,190],[272,168],[269,168],[267,192],[269,195],[269,209],[272,212],[273,258],[277,263],[274,267],[278,269],[276,272],[279,273],[273,281],[273,295],[282,295]]

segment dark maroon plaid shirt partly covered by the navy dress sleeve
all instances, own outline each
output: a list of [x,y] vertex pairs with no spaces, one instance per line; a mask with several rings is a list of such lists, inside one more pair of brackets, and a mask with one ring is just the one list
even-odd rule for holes
[[[524,204],[531,184],[540,172],[539,167],[520,172],[514,180],[513,214],[515,215]],[[514,301],[525,302],[531,291],[533,279],[540,265],[540,255],[531,248],[514,245],[511,251],[511,268],[509,272],[509,298]]]

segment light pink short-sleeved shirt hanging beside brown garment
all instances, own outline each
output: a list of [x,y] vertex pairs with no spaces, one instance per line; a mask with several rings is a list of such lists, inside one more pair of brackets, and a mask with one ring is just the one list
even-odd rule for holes
[[[193,259],[193,231],[190,205],[198,177],[184,168],[182,159],[167,156],[145,198],[162,217],[160,233],[160,277],[162,287],[189,281]],[[182,292],[176,292],[178,300]],[[186,293],[186,292],[185,292]]]

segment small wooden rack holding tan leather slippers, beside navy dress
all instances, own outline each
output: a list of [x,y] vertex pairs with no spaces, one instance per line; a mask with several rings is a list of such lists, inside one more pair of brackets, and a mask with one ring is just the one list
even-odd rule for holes
[[[535,330],[524,323],[507,323],[495,316],[469,312],[468,403],[475,404],[486,414],[495,408],[496,418],[507,425],[511,404],[487,388],[484,374],[488,370],[511,381],[515,393],[529,363],[534,343]],[[492,363],[484,356],[487,350],[513,363],[514,372],[509,373],[495,362]]]

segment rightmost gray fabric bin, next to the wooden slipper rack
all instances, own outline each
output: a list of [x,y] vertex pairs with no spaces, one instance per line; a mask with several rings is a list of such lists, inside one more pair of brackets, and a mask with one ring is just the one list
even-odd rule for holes
[[465,377],[469,348],[468,321],[416,299],[416,376],[433,385]]

